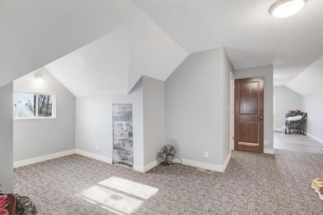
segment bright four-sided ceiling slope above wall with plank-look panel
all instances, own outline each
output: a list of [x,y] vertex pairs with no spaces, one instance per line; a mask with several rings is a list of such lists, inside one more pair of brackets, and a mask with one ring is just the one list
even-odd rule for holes
[[130,36],[125,25],[45,68],[76,97],[127,94]]

